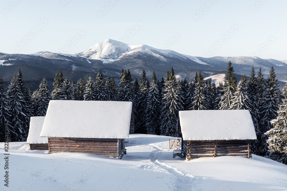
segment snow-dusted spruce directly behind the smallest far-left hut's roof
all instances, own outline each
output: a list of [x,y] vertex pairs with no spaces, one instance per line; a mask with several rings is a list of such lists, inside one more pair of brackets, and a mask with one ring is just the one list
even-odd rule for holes
[[46,76],[42,79],[39,89],[33,93],[32,99],[36,106],[35,116],[45,116],[51,100]]

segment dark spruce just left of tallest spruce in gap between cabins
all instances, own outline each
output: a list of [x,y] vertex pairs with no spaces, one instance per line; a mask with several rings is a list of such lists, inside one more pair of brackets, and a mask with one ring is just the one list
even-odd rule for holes
[[155,72],[152,74],[148,90],[146,105],[146,130],[148,134],[156,135],[160,132],[161,101]]

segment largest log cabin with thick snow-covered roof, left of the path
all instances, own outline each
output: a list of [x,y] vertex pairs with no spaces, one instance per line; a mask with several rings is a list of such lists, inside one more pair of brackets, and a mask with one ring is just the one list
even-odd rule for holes
[[121,157],[133,132],[132,102],[51,100],[41,137],[49,153],[91,153]]

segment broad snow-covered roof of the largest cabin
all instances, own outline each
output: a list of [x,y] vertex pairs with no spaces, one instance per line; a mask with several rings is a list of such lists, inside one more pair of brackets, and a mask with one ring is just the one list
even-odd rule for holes
[[41,137],[128,139],[132,102],[51,100]]

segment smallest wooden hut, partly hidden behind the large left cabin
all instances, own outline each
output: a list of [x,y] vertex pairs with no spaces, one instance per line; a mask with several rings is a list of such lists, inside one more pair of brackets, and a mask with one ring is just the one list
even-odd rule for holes
[[27,143],[30,150],[48,150],[48,138],[40,137],[45,117],[31,117]]

